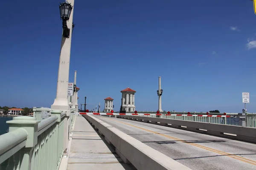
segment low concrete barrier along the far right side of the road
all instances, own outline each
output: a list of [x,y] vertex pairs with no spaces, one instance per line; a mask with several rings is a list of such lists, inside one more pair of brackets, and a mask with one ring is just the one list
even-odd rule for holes
[[256,128],[235,125],[221,125],[206,122],[192,122],[186,120],[163,119],[145,116],[118,115],[117,118],[132,119],[140,122],[170,126],[178,129],[205,133],[212,136],[220,136],[244,142],[256,143]]

